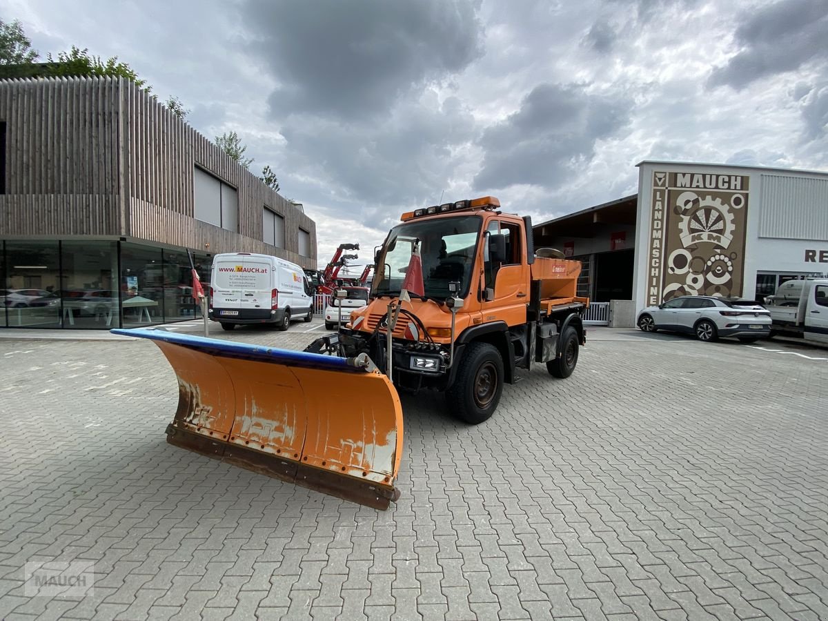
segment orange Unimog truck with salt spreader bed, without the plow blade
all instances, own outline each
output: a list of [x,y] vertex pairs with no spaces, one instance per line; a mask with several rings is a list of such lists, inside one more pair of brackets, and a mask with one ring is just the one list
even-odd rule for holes
[[[420,262],[421,295],[404,291]],[[445,392],[450,412],[471,424],[492,416],[517,369],[575,370],[589,305],[576,295],[580,262],[534,248],[531,219],[503,213],[492,196],[402,214],[374,274],[368,306],[306,352],[367,354],[403,391]]]

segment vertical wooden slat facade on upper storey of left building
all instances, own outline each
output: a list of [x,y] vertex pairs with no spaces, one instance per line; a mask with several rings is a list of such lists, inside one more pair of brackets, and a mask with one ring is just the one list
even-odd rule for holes
[[[128,80],[3,79],[0,121],[0,237],[126,237],[316,267],[313,220]],[[237,190],[238,233],[194,218],[195,166]],[[265,206],[285,219],[286,248],[262,241]],[[310,257],[299,254],[300,228]]]

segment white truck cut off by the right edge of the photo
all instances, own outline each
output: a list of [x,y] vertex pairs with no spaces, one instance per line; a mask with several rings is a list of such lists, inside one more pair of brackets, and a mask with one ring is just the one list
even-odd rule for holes
[[787,281],[765,299],[771,335],[828,344],[828,279]]

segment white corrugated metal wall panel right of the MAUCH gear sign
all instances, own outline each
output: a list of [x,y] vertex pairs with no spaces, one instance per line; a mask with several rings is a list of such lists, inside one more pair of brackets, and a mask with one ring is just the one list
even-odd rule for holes
[[762,175],[759,237],[828,239],[828,180]]

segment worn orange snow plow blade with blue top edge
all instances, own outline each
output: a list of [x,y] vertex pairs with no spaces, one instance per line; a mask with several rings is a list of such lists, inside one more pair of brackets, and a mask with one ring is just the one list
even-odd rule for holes
[[402,407],[367,355],[112,332],[152,339],[175,370],[171,444],[373,508],[399,498]]

